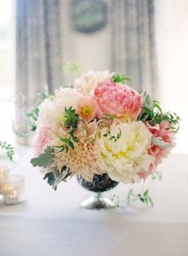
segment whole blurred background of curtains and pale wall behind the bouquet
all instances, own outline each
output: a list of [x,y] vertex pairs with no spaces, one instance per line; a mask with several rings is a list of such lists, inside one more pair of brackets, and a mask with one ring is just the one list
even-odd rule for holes
[[187,0],[0,1],[0,140],[14,143],[37,92],[71,86],[62,66],[111,70],[147,90],[182,122],[188,153]]

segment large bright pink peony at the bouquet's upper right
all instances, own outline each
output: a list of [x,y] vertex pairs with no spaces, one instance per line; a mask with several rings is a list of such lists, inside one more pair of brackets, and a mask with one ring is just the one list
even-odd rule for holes
[[135,120],[143,106],[141,95],[135,90],[111,80],[96,86],[94,98],[100,109],[99,118],[103,114],[115,114],[125,120]]

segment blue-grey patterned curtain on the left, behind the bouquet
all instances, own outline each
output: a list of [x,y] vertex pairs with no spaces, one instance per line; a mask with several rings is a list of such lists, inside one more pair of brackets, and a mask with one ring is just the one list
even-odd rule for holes
[[16,114],[22,126],[37,92],[62,84],[61,0],[16,1]]

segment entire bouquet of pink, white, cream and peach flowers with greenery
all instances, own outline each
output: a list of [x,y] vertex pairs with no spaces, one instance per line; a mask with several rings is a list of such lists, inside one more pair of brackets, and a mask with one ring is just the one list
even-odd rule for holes
[[61,88],[35,111],[35,157],[53,189],[95,174],[133,183],[154,174],[173,149],[176,114],[126,85],[129,78],[109,71],[88,71],[72,88]]

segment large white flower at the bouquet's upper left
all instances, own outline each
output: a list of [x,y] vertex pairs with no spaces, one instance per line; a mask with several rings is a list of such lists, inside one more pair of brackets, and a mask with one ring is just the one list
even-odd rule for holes
[[45,99],[39,106],[39,114],[37,119],[37,128],[52,127],[53,122],[57,121],[60,114],[65,112],[65,107],[68,109],[70,106],[75,108],[76,98],[79,97],[76,89],[65,88],[57,90],[57,94],[53,101]]

